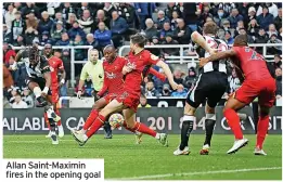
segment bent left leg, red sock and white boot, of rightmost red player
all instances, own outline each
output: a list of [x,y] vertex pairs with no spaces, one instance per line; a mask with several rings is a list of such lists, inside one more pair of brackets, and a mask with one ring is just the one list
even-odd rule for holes
[[234,98],[230,98],[223,109],[223,114],[224,114],[224,117],[227,118],[227,122],[235,135],[235,142],[234,142],[233,146],[227,152],[227,154],[233,154],[248,143],[248,140],[245,139],[243,135],[243,132],[242,132],[242,129],[240,126],[240,117],[237,116],[237,114],[235,112],[244,106],[245,106],[244,103],[237,101]]

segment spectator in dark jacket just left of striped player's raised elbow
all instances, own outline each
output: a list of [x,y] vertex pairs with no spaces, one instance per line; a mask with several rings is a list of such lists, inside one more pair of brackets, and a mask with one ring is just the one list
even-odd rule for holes
[[173,31],[173,39],[179,42],[179,44],[189,44],[191,42],[192,30],[184,24],[183,18],[177,21],[178,26]]

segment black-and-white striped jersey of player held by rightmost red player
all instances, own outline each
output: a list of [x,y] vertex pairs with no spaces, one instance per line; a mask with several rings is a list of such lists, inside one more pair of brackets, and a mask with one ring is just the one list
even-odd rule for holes
[[[204,36],[204,39],[208,43],[208,46],[213,49],[217,49],[218,52],[221,51],[227,51],[228,50],[228,44],[220,39],[217,39],[215,37],[209,37],[209,36]],[[200,57],[208,57],[210,54],[206,52],[203,48],[197,46],[196,52]],[[221,72],[227,74],[227,60],[220,60],[216,62],[209,62],[207,63],[204,67],[200,69],[200,73],[208,73],[208,72]]]

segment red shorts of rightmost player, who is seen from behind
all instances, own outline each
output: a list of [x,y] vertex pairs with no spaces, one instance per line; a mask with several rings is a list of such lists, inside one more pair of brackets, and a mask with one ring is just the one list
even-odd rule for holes
[[258,96],[260,106],[272,107],[275,101],[276,83],[273,78],[265,80],[245,80],[235,92],[234,98],[245,104],[249,104]]

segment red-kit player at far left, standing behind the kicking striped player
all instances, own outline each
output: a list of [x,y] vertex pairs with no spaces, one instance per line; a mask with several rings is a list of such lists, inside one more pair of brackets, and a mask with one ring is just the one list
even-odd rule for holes
[[[61,58],[52,55],[52,46],[50,43],[47,43],[44,46],[44,56],[47,57],[49,65],[50,65],[50,70],[51,70],[51,91],[52,91],[52,104],[53,104],[53,108],[55,110],[55,113],[60,116],[60,112],[56,108],[57,102],[59,102],[59,89],[60,86],[65,83],[65,77],[66,77],[66,73],[64,69],[64,65]],[[62,73],[61,76],[61,81],[59,82],[59,72]],[[50,128],[47,116],[44,116],[48,128]],[[61,123],[61,120],[57,122],[57,130],[59,130],[59,136],[63,138],[64,136],[64,129],[63,126]],[[47,138],[50,138],[50,132],[47,135]]]

